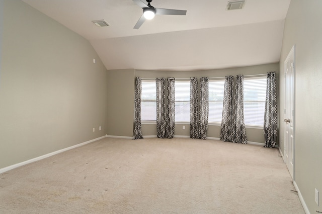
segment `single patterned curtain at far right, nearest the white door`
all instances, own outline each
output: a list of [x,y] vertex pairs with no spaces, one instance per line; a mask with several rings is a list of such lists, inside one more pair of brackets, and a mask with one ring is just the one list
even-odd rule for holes
[[273,148],[277,139],[277,97],[275,72],[267,73],[266,104],[264,114],[265,146]]

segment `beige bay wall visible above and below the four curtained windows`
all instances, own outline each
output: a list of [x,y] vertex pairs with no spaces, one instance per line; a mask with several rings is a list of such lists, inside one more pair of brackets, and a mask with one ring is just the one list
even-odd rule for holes
[[[205,71],[142,71],[136,70],[135,76],[141,78],[155,78],[155,77],[175,77],[175,78],[190,78],[190,77],[224,77],[226,75],[236,76],[238,74],[243,75],[256,75],[266,74],[270,71],[276,71],[277,77],[279,75],[279,63],[248,66],[240,68],[228,68],[228,69],[216,69],[216,70],[205,70]],[[278,79],[278,78],[277,78]],[[278,80],[277,80],[278,81]],[[183,130],[183,124],[176,124],[175,135],[189,136],[189,123],[184,124],[186,129]],[[246,129],[248,141],[265,143],[263,129],[247,128]],[[155,124],[143,124],[142,134],[151,136],[156,135]],[[220,126],[209,125],[207,137],[220,138]]]

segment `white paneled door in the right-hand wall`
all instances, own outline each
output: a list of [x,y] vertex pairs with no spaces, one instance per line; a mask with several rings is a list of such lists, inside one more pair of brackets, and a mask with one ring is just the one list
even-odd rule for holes
[[285,109],[284,109],[284,161],[294,180],[294,46],[284,62]]

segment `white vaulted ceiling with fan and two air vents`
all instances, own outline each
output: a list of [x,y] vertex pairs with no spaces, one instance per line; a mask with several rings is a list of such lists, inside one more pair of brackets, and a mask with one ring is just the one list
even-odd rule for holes
[[[290,0],[153,0],[155,8],[187,10],[133,29],[142,9],[132,0],[23,0],[88,39],[106,69],[203,70],[278,62]],[[144,1],[144,0],[142,0]],[[93,20],[109,27],[98,28]]]

